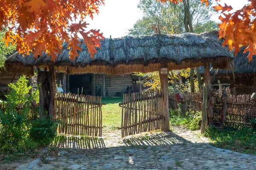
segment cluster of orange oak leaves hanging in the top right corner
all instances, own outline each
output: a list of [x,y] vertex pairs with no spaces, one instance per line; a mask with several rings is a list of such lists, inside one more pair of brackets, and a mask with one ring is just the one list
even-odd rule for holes
[[223,45],[234,49],[235,54],[240,51],[241,45],[247,47],[244,53],[249,51],[247,58],[250,62],[256,55],[256,0],[249,0],[249,5],[233,13],[228,13],[233,8],[227,4],[214,8],[221,12],[219,19],[222,23],[218,27],[219,38],[225,39]]

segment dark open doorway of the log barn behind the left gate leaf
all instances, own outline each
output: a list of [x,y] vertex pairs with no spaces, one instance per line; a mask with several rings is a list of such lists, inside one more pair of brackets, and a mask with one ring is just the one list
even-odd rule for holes
[[[70,93],[92,95],[92,75],[81,74],[81,75],[70,75]],[[83,88],[83,91],[82,91]]]

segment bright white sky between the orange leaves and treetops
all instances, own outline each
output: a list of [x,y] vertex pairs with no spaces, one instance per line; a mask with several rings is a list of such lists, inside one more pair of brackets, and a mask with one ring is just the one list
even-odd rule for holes
[[[123,37],[128,34],[128,29],[143,17],[143,13],[137,8],[139,0],[105,0],[105,6],[99,8],[99,15],[94,15],[93,21],[89,21],[89,29],[100,29],[103,36],[109,38]],[[231,5],[235,10],[248,3],[247,0],[221,0],[220,4]],[[218,15],[212,16],[212,20],[218,21]]]

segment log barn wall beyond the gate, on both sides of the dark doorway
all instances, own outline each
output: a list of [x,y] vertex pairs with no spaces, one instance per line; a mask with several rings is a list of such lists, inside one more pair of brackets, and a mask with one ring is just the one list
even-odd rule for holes
[[[66,80],[68,83],[68,80]],[[56,73],[56,84],[63,83],[63,73]],[[102,74],[94,74],[92,87],[94,88],[94,94],[96,96],[101,95],[102,93]],[[125,76],[114,76],[114,75],[105,75],[105,92],[106,97],[119,96],[124,94],[127,91],[127,87],[132,87],[132,77],[130,75]]]

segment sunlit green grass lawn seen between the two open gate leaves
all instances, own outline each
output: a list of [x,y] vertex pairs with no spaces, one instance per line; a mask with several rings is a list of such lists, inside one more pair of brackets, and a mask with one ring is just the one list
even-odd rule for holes
[[121,102],[122,98],[102,98],[102,103],[107,104],[102,106],[103,131],[121,128],[122,107],[119,107]]

